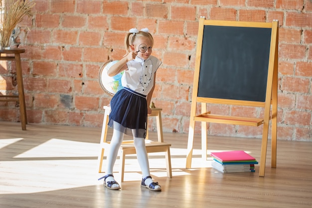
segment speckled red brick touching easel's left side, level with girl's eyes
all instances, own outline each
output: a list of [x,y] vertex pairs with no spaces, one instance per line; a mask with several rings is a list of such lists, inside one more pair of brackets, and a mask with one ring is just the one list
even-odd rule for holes
[[195,48],[195,42],[191,39],[188,39],[186,37],[169,37],[168,40],[168,48],[170,50],[193,50]]

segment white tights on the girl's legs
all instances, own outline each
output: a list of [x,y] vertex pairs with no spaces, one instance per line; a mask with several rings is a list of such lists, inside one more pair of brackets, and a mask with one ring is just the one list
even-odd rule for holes
[[[121,126],[119,123],[114,121],[114,126],[115,125]],[[121,128],[118,128],[118,129],[121,129]],[[132,134],[136,135],[135,129],[132,130]],[[134,145],[135,145],[136,152],[137,152],[137,159],[138,159],[141,171],[142,171],[142,178],[145,178],[151,175],[148,154],[146,152],[146,147],[145,147],[145,139],[138,138],[135,136],[133,138],[134,138]],[[107,155],[107,169],[106,169],[105,175],[113,174],[113,168],[117,159],[118,150],[123,140],[124,140],[124,132],[115,130],[114,128],[113,137],[112,137],[111,144],[110,144],[110,150]],[[106,182],[109,182],[109,181],[114,181],[114,178],[108,177],[106,179]],[[152,179],[147,179],[145,181],[145,184],[150,185],[152,182],[153,182]]]

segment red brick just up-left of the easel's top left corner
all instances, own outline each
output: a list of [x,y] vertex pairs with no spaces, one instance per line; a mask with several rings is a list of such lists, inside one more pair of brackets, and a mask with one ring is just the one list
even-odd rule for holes
[[171,19],[192,20],[196,19],[195,6],[171,6]]

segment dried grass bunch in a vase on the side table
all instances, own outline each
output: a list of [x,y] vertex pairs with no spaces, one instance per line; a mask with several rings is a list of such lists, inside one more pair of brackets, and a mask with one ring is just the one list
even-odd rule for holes
[[9,40],[16,24],[24,15],[32,16],[34,0],[0,0],[0,46],[9,47]]

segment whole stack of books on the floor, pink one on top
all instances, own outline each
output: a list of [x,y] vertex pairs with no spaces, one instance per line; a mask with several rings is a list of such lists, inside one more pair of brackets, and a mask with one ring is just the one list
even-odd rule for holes
[[222,173],[255,172],[256,159],[246,152],[226,151],[210,154],[213,158],[212,167]]

